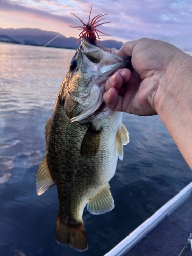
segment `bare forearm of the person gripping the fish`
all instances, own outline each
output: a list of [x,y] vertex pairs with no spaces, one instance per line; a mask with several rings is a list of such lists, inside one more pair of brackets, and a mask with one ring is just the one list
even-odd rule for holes
[[178,52],[160,79],[154,108],[192,169],[192,57]]

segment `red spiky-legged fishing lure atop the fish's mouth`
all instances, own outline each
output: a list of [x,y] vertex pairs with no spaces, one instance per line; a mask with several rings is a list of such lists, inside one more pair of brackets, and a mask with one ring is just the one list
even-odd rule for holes
[[[98,32],[102,33],[103,35],[108,35],[108,34],[105,34],[105,33],[101,32],[100,30],[97,29],[97,27],[102,25],[102,24],[110,23],[110,22],[103,22],[103,23],[98,24],[99,22],[101,22],[101,20],[104,20],[104,18],[102,18],[102,19],[100,19],[100,18],[103,17],[103,16],[106,16],[107,14],[104,14],[104,15],[103,14],[99,14],[99,15],[95,16],[91,20],[91,23],[90,23],[91,11],[92,11],[92,7],[91,7],[91,10],[90,10],[89,19],[88,19],[88,23],[87,24],[84,23],[75,14],[71,13],[73,16],[78,18],[80,20],[80,22],[82,22],[82,24],[83,24],[83,26],[70,26],[72,28],[83,29],[83,31],[79,34],[79,39],[77,41],[77,44],[80,41],[80,39],[82,39],[83,37],[86,37],[86,40],[90,44],[97,46],[97,41],[100,41],[100,37],[99,36],[101,36],[101,35],[98,34]],[[108,36],[110,36],[110,35],[108,35]]]

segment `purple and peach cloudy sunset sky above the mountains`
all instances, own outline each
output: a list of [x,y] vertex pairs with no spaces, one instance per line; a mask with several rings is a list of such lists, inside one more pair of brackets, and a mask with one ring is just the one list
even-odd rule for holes
[[88,22],[98,14],[110,23],[98,29],[125,42],[142,37],[163,40],[181,50],[192,51],[191,0],[0,0],[1,28],[39,28],[76,37],[80,31],[69,26],[82,26],[75,14]]

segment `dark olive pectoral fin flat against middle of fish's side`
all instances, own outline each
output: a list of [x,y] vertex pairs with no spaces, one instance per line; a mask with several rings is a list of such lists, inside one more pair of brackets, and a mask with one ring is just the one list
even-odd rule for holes
[[92,125],[89,126],[81,143],[81,155],[86,157],[94,156],[100,145],[101,130],[95,130]]

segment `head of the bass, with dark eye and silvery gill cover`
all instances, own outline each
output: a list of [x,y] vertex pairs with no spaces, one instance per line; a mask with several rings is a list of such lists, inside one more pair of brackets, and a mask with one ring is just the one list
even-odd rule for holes
[[92,116],[103,103],[106,80],[130,65],[131,57],[102,50],[83,38],[63,81],[64,110],[70,122]]

